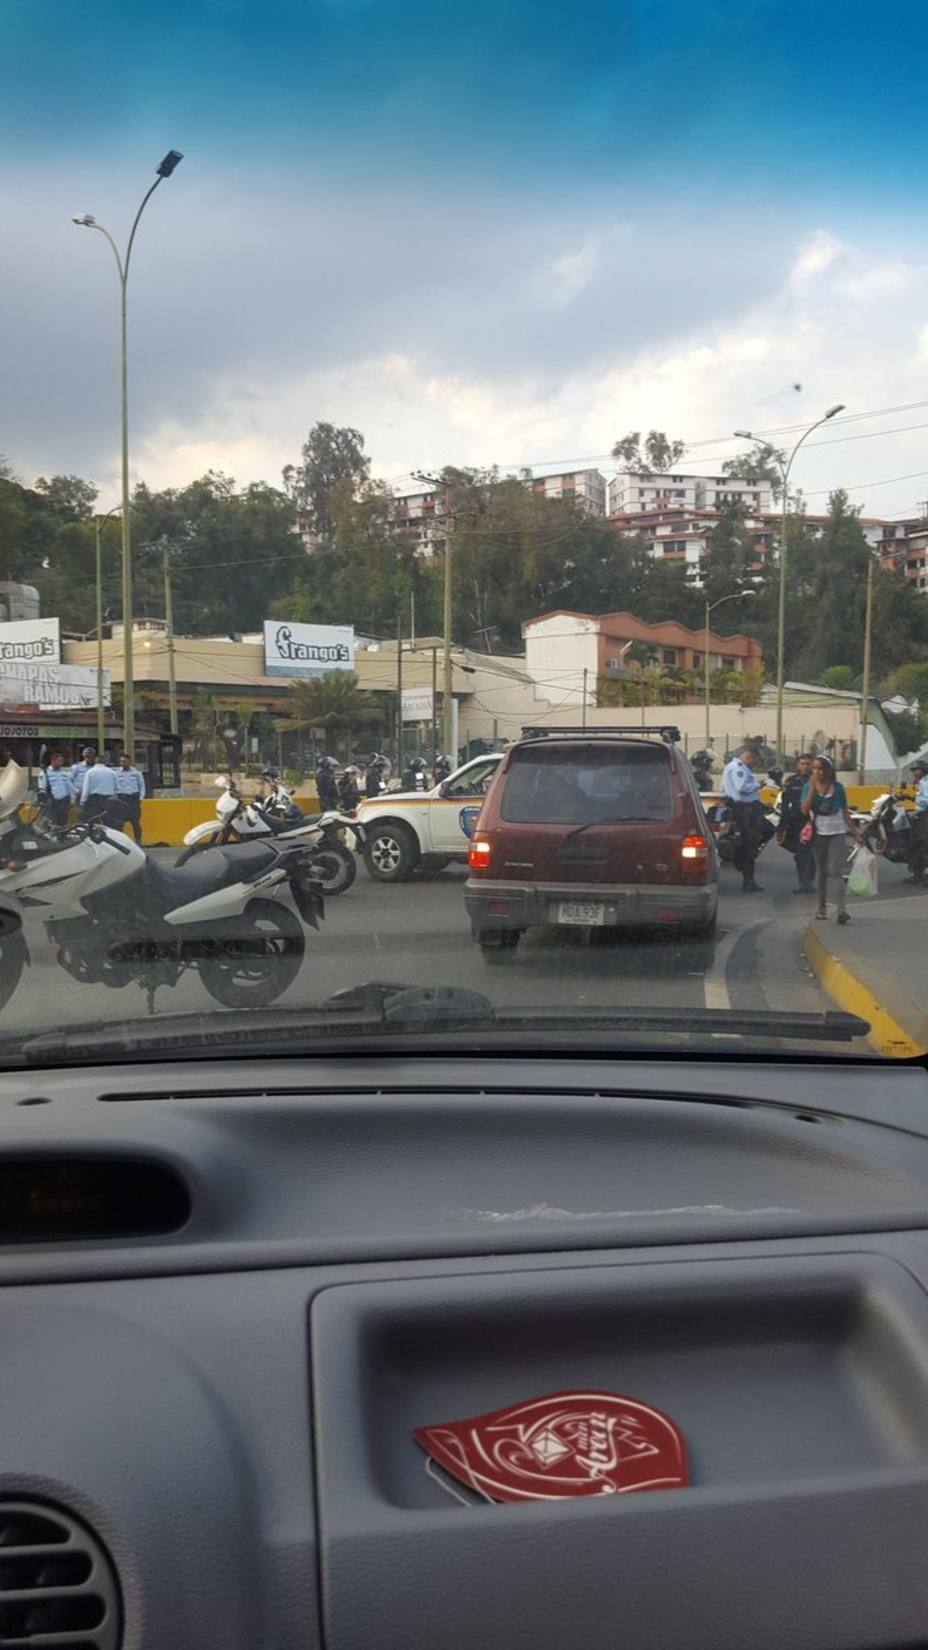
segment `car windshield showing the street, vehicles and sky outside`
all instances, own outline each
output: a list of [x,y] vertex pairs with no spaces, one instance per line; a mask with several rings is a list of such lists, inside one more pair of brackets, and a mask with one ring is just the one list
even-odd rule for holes
[[5,8],[0,1066],[928,1049],[928,13],[639,12]]

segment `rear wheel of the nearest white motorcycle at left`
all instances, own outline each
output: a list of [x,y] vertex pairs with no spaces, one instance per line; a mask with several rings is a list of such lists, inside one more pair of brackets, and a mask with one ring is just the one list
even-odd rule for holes
[[220,952],[203,957],[200,978],[223,1008],[266,1008],[301,970],[305,939],[289,906],[254,899],[241,917],[228,919]]

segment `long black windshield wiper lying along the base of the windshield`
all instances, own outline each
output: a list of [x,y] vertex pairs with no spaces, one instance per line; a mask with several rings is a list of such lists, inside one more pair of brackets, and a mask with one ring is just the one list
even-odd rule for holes
[[370,982],[339,992],[317,1008],[263,1008],[154,1015],[145,1020],[99,1020],[92,1025],[0,1038],[0,1066],[71,1064],[121,1059],[150,1059],[203,1054],[254,1056],[292,1054],[301,1046],[340,1044],[352,1049],[368,1040],[395,1036],[414,1040],[441,1036],[449,1048],[476,1051],[476,1033],[487,1035],[489,1048],[510,1033],[522,1053],[532,1053],[552,1033],[586,1038],[603,1033],[619,1040],[641,1036],[751,1038],[849,1043],[867,1036],[870,1026],[840,1010],[826,1013],[781,1013],[771,1008],[675,1008],[621,1006],[611,1003],[581,1008],[494,1008],[481,992],[447,985],[391,985]]

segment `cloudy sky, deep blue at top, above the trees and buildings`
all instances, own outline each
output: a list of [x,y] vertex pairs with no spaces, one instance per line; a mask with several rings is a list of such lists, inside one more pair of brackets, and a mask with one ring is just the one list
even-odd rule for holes
[[[0,452],[117,497],[130,462],[279,483],[319,419],[403,485],[713,472],[736,427],[847,412],[796,464],[928,498],[923,0],[3,0]],[[898,409],[898,411],[892,411]]]

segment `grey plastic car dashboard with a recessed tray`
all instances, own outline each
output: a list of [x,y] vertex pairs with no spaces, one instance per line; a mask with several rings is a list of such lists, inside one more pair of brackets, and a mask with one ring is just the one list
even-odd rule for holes
[[[928,1645],[921,1066],[190,1059],[0,1119],[0,1643]],[[428,1470],[565,1391],[689,1483]]]

